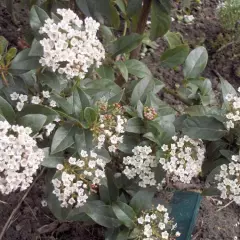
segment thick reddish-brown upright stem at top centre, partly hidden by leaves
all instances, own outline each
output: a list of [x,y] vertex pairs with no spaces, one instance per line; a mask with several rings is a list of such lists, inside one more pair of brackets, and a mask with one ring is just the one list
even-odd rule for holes
[[[151,3],[152,0],[143,0],[143,6],[142,6],[142,11],[140,14],[139,22],[137,25],[136,33],[142,35],[145,31],[147,20],[148,20],[148,15],[151,9]],[[131,59],[137,59],[141,50],[142,44],[140,44],[136,49],[134,49],[131,54],[130,58]]]

